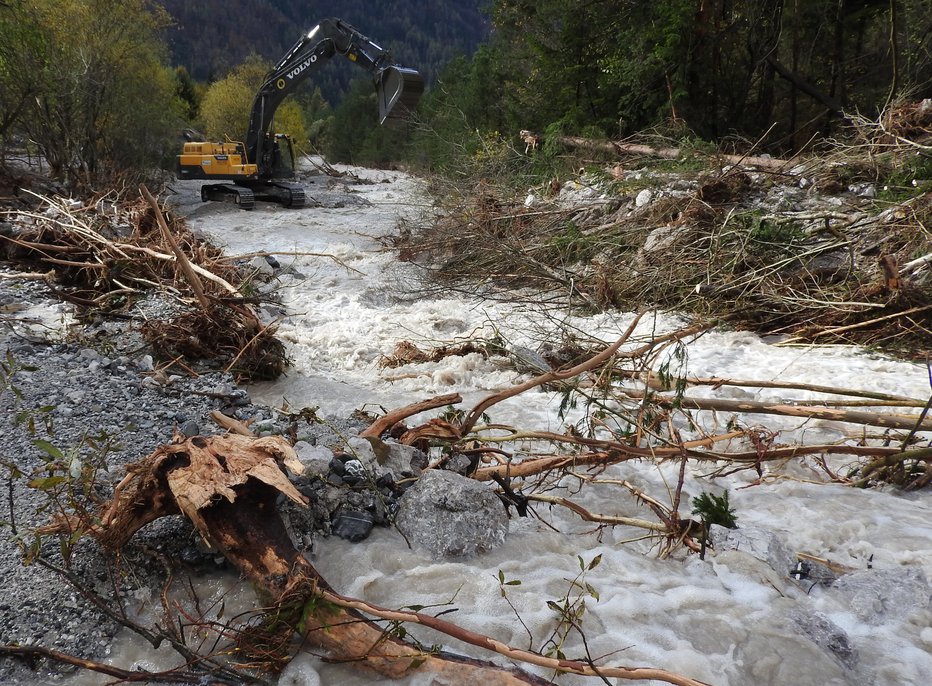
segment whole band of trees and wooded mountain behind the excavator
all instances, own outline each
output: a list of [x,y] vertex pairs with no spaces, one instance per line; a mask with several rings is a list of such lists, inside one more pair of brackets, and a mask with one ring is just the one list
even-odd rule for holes
[[369,80],[351,86],[364,74],[321,69],[291,99],[304,121],[287,118],[335,161],[453,169],[522,129],[615,138],[671,124],[783,153],[853,113],[932,96],[932,0],[4,0],[0,136],[32,141],[69,179],[170,166],[184,128],[219,136],[208,123],[241,120],[251,87],[218,96],[244,64],[334,15],[430,84],[418,125],[385,132]]

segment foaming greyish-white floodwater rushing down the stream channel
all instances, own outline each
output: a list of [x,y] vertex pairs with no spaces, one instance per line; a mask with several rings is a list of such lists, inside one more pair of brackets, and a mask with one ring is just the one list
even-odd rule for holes
[[[468,408],[526,377],[502,358],[479,355],[396,369],[382,368],[379,360],[401,340],[429,348],[497,333],[514,345],[533,347],[548,330],[553,335],[555,320],[605,341],[630,323],[631,316],[620,313],[570,320],[557,311],[410,295],[402,266],[378,238],[394,232],[400,218],[429,211],[429,202],[417,181],[403,174],[354,171],[365,183],[315,177],[308,193],[320,206],[297,211],[259,206],[241,212],[229,205],[198,205],[196,184],[179,184],[178,203],[191,226],[225,245],[229,254],[309,253],[277,258],[300,274],[281,291],[290,314],[280,322],[280,333],[294,366],[286,378],[251,388],[254,401],[316,406],[322,414],[339,416],[456,391]],[[648,317],[639,335],[680,324],[675,317]],[[849,347],[775,347],[741,332],[700,337],[689,345],[679,371],[863,388],[919,399],[930,393],[929,376],[920,365]],[[746,400],[815,397],[737,387],[715,394]],[[562,431],[559,404],[556,395],[533,391],[496,406],[493,420]],[[727,414],[702,418],[706,428],[720,430],[728,420]],[[782,432],[784,442],[856,441],[861,432],[852,425],[764,415],[745,421]],[[605,476],[627,479],[669,502],[677,470],[678,463],[629,462]],[[601,555],[601,564],[585,576],[598,599],[588,598],[582,628],[589,654],[605,656],[604,664],[660,667],[730,686],[929,683],[932,611],[925,579],[932,578],[932,494],[817,483],[819,472],[806,460],[787,468],[792,479],[763,486],[751,484],[756,478],[752,472],[713,480],[707,471],[698,466],[688,471],[684,502],[706,490],[727,488],[741,527],[773,532],[792,552],[870,570],[875,575],[871,578],[879,579],[879,590],[846,595],[825,585],[797,584],[788,578],[788,569],[775,570],[743,551],[705,561],[685,553],[660,559],[656,542],[643,539],[640,530],[597,531],[571,513],[547,508],[538,508],[540,519],[512,519],[505,544],[476,559],[437,562],[383,529],[361,544],[321,540],[314,563],[343,593],[391,607],[451,603],[457,611],[447,619],[516,647],[540,648],[557,628],[547,601],[559,602],[572,592],[570,581],[580,571],[578,556],[588,563]],[[650,516],[627,491],[610,485],[573,496],[592,512]],[[499,571],[521,581],[507,587],[507,601]],[[443,643],[450,650],[475,654],[428,631],[413,633],[426,644]],[[562,650],[570,657],[584,655],[574,632]],[[368,675],[310,656],[296,659],[281,682],[318,680],[374,683]],[[598,680],[560,677],[558,682]]]

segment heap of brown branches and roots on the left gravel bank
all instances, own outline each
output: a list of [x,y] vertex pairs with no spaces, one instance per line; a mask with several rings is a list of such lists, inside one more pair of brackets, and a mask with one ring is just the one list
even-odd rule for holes
[[[55,294],[79,316],[142,319],[141,335],[164,362],[190,368],[210,360],[244,379],[279,376],[284,347],[241,295],[249,274],[148,197],[82,203],[35,195],[33,209],[3,213],[5,257],[50,269]],[[150,298],[162,301],[162,315],[139,317],[134,305]]]

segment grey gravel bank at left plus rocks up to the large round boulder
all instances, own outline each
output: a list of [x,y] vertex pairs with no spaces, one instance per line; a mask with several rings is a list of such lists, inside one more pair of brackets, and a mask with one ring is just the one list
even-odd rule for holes
[[[438,555],[451,550],[472,554],[504,538],[507,521],[497,499],[455,473],[468,469],[468,460],[451,460],[451,471],[418,482],[408,499],[416,504],[399,512],[399,499],[427,466],[427,455],[354,438],[368,425],[367,417],[291,416],[252,404],[229,374],[166,374],[153,364],[133,317],[78,325],[68,308],[50,297],[43,281],[17,279],[9,268],[2,274],[0,455],[6,516],[0,575],[8,593],[0,602],[0,643],[106,659],[121,626],[113,614],[95,607],[87,593],[106,602],[110,613],[122,608],[133,616],[134,608],[145,605],[166,581],[169,567],[156,560],[174,561],[172,573],[182,576],[226,568],[225,560],[207,550],[180,516],[145,527],[119,560],[91,542],[79,543],[65,559],[57,536],[34,535],[59,508],[82,502],[67,489],[35,488],[36,480],[52,476],[53,464],[56,474],[66,467],[76,488],[86,486],[106,499],[128,464],[173,437],[222,432],[211,418],[218,411],[260,435],[285,435],[294,442],[306,467],[295,484],[311,507],[285,508],[285,517],[296,544],[308,553],[315,536],[358,542],[396,514],[412,540],[422,540]],[[156,313],[151,308],[161,306],[157,300],[144,302],[134,317],[152,316]],[[457,509],[470,513],[465,529],[457,531],[444,517],[451,497]],[[29,558],[41,559],[26,563],[27,550]],[[45,660],[0,659],[4,684],[58,681],[71,671]]]

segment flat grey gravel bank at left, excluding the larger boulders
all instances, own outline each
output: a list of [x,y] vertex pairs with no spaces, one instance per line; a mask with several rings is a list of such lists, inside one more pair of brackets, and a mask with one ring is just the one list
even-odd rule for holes
[[[13,273],[4,266],[0,271],[5,277]],[[35,527],[70,503],[67,493],[49,498],[27,481],[48,476],[46,467],[54,455],[76,469],[90,468],[92,490],[106,498],[127,464],[151,454],[175,432],[218,433],[210,419],[214,410],[252,422],[264,433],[280,433],[294,425],[269,408],[251,404],[227,374],[163,373],[153,365],[131,320],[37,335],[41,327],[33,308],[51,303],[42,281],[0,278],[0,576],[5,589],[0,644],[42,646],[101,659],[109,654],[120,627],[81,597],[68,578],[118,607],[118,600],[128,603],[139,592],[160,588],[164,570],[154,562],[159,556],[176,561],[175,573],[182,575],[216,572],[225,562],[199,544],[187,520],[172,517],[140,531],[124,551],[119,569],[89,542],[79,544],[66,563],[57,537],[46,537],[39,550],[43,559],[64,572],[24,564],[24,547],[36,540]],[[338,431],[352,432],[364,425],[349,420],[305,423],[300,438],[305,449],[312,450],[312,444],[335,442]],[[302,524],[312,526],[312,520],[305,518]],[[42,661],[0,658],[3,684],[47,682],[65,674],[60,666]]]

